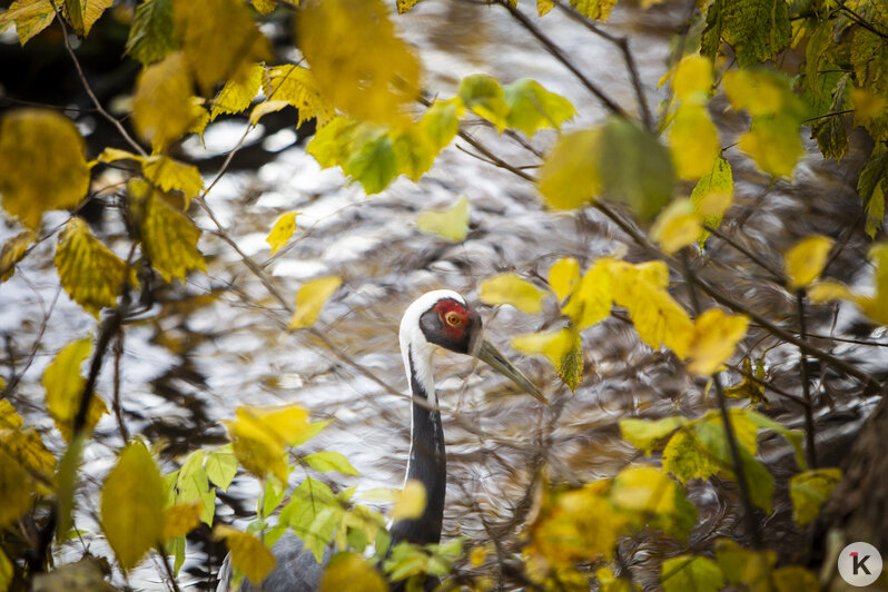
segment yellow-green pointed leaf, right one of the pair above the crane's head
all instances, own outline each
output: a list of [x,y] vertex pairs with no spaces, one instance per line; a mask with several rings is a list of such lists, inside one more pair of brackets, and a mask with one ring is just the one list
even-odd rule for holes
[[560,129],[564,121],[576,115],[568,99],[547,91],[530,78],[505,86],[503,92],[509,105],[509,127],[523,131],[527,137],[541,128]]

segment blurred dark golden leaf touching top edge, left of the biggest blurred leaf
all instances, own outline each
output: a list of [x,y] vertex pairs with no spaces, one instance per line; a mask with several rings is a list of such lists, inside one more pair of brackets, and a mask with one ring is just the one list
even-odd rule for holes
[[253,65],[266,59],[268,40],[238,0],[174,2],[172,20],[182,55],[204,96],[218,82],[245,82]]

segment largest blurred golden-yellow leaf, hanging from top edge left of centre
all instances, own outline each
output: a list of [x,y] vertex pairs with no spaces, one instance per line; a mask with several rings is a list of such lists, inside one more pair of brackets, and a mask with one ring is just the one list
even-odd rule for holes
[[406,121],[420,61],[395,36],[382,0],[325,0],[299,14],[299,46],[325,97],[367,121]]

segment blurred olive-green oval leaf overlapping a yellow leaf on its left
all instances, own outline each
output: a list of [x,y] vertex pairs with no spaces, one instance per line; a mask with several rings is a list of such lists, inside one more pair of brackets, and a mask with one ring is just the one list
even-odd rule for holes
[[602,129],[599,172],[604,194],[650,219],[672,199],[675,172],[660,141],[637,124],[613,117]]

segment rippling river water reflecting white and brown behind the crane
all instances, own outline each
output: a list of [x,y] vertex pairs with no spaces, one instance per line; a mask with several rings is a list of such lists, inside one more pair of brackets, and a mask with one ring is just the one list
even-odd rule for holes
[[[521,4],[522,10],[533,9],[533,2]],[[667,97],[657,82],[668,69],[670,40],[688,12],[689,2],[647,11],[622,2],[606,26],[610,32],[630,37],[652,110]],[[620,105],[632,112],[638,110],[615,47],[558,10],[542,20],[535,16],[532,19]],[[397,22],[422,56],[424,86],[433,95],[453,96],[460,80],[472,73],[487,73],[503,83],[530,77],[574,103],[579,116],[572,126],[591,125],[605,116],[583,86],[502,7],[428,0],[398,17]],[[713,107],[727,146],[743,131],[746,120],[723,112],[723,100],[716,99]],[[510,138],[497,137],[482,125],[467,129],[514,165],[537,164]],[[188,142],[186,149],[198,158],[224,152],[243,132],[243,127],[223,122],[207,131],[206,147]],[[533,145],[544,150],[554,137],[553,132],[541,132]],[[403,395],[407,385],[397,326],[411,300],[430,289],[451,288],[477,303],[482,279],[503,270],[546,277],[551,264],[564,256],[583,264],[610,254],[643,258],[596,211],[546,211],[531,185],[465,154],[460,147],[471,148],[462,140],[445,149],[420,182],[401,178],[381,195],[367,198],[358,185],[347,185],[338,169],[322,170],[305,154],[304,144],[293,145],[293,138],[290,130],[265,139],[256,134],[249,141],[265,141],[272,150],[288,147],[256,170],[226,174],[208,195],[207,204],[225,233],[264,266],[286,298],[293,298],[304,280],[318,275],[335,274],[344,279],[318,323],[326,342],[307,332],[283,329],[288,322],[286,312],[246,269],[239,255],[214,235],[210,219],[195,207],[191,214],[205,229],[200,248],[209,272],[206,276],[193,275],[184,289],[165,289],[169,298],[166,305],[155,305],[129,324],[121,358],[125,421],[131,433],[162,440],[160,457],[166,470],[175,468],[196,447],[225,442],[218,422],[230,418],[238,405],[296,403],[308,408],[313,418],[334,420],[305,453],[338,451],[361,471],[359,477],[334,474],[338,487],[358,485],[361,491],[399,486],[410,438],[410,404]],[[856,179],[848,172],[849,168],[854,170],[854,154],[848,157],[851,165],[842,168],[825,164],[813,154],[799,165],[793,184],[779,181],[773,186],[736,148],[726,155],[734,165],[738,184],[727,227],[742,226],[746,245],[776,266],[780,262],[774,249],[783,249],[795,238],[813,231],[839,236],[857,219]],[[461,196],[471,203],[471,230],[465,241],[454,245],[417,230],[420,211],[450,207]],[[264,239],[277,215],[286,210],[300,213],[298,229],[292,245],[269,260]],[[122,236],[117,216],[109,214],[106,218],[106,228]],[[47,227],[63,219],[60,214],[48,216]],[[0,239],[11,233],[2,229]],[[869,270],[861,264],[865,244],[859,234],[850,238],[831,272],[845,280],[866,283]],[[791,298],[764,282],[767,274],[724,244],[712,243],[709,255],[721,262],[710,262],[707,268],[713,279],[730,278],[728,287],[736,296],[744,297],[771,318],[786,319],[791,314]],[[122,241],[116,247],[121,251],[126,248]],[[30,351],[43,310],[57,297],[55,272],[39,265],[50,258],[51,245],[45,241],[16,276],[0,286],[0,329],[13,335],[12,347],[20,358]],[[738,268],[742,269],[739,275]],[[511,336],[558,323],[553,298],[535,317],[511,307],[494,310],[478,304],[477,308],[489,338],[513,359],[519,355],[509,347]],[[832,320],[831,315],[818,317],[815,330],[829,333]],[[858,320],[854,312],[842,309],[836,318],[837,330],[854,328]],[[16,404],[29,420],[38,422],[55,450],[63,447],[58,432],[51,421],[31,413],[29,405],[42,404],[40,376],[58,348],[91,330],[95,319],[65,294],[58,295],[41,346],[19,388]],[[884,334],[877,337],[885,339]],[[756,338],[747,346],[754,345]],[[872,369],[885,367],[884,349],[846,349],[852,347],[862,352],[860,357],[869,361]],[[606,477],[637,458],[635,451],[620,438],[619,418],[674,413],[693,416],[711,405],[704,395],[706,384],[688,378],[671,356],[641,345],[634,332],[618,319],[586,330],[584,349],[586,371],[575,394],[560,385],[543,362],[517,361],[558,403],[545,412],[489,368],[457,355],[437,357],[450,478],[445,537],[464,534],[480,542],[487,540],[480,511],[489,526],[502,529],[506,549],[520,547],[522,517],[532,497],[529,483],[540,466],[541,441],[545,442],[545,463],[553,481],[578,483]],[[769,364],[770,377],[792,387],[798,372],[796,353],[778,347],[769,354]],[[835,427],[839,432],[857,425],[862,413],[857,404],[843,398],[849,386],[839,381],[829,389],[833,413],[836,408],[847,411],[845,421]],[[98,392],[109,399],[111,391],[111,372],[106,368]],[[771,399],[773,415],[800,425],[797,407]],[[103,541],[90,534],[97,532],[97,491],[120,444],[114,417],[106,416],[86,452],[78,526],[87,531],[83,544],[96,554],[108,553]],[[777,441],[766,442],[764,451],[774,463],[787,456],[786,446]],[[296,483],[302,476],[294,474],[293,478]],[[702,545],[714,534],[736,532],[732,520],[726,519],[724,510],[732,502],[723,490],[708,484],[692,491],[704,516],[703,525],[692,535],[692,545]],[[243,527],[250,519],[250,500],[258,493],[255,478],[239,475],[226,503],[218,503],[217,515]],[[786,501],[782,505],[778,501],[778,514],[781,511],[786,514]],[[62,561],[75,560],[82,549],[79,541],[67,543],[58,555]],[[645,568],[675,549],[662,541],[641,541],[624,551],[635,579],[651,583]],[[219,552],[218,547],[189,541],[182,583],[206,588],[207,572],[217,569]],[[131,574],[130,583],[138,589],[160,590],[160,573],[157,565],[147,562]]]

